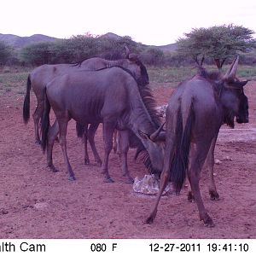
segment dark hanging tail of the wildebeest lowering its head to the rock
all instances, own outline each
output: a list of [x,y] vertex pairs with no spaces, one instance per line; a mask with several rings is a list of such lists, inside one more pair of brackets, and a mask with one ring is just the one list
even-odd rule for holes
[[41,133],[42,133],[41,146],[43,148],[43,152],[45,152],[45,148],[48,142],[49,111],[50,111],[50,105],[49,105],[48,97],[46,95],[46,88],[45,88],[44,89],[44,114],[41,122]]

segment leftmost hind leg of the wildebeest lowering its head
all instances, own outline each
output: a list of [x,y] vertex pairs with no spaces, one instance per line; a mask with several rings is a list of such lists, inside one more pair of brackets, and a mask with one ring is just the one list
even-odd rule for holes
[[52,160],[52,149],[55,143],[55,139],[58,136],[58,133],[59,133],[59,125],[57,120],[55,120],[54,125],[49,127],[48,143],[47,143],[47,165],[49,166],[52,172],[58,172],[58,170],[53,165],[53,160]]

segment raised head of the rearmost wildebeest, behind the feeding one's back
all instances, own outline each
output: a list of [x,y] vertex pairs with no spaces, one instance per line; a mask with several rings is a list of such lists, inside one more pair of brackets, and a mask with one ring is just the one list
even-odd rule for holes
[[129,69],[137,80],[138,85],[147,85],[149,84],[148,72],[146,67],[143,65],[143,62],[139,60],[136,54],[131,54],[130,50],[125,46],[126,53],[125,59],[127,59],[126,67]]

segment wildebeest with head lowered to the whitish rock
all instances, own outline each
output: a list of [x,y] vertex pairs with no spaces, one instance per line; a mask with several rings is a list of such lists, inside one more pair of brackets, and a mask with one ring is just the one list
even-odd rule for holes
[[[73,72],[59,76],[45,89],[44,118],[42,121],[42,146],[47,146],[48,166],[55,171],[52,147],[60,132],[61,149],[70,179],[73,169],[67,158],[67,123],[75,119],[79,124],[103,123],[105,154],[102,164],[105,181],[113,180],[108,174],[108,155],[113,146],[113,131],[130,129],[147,149],[154,170],[160,172],[163,147],[155,141],[160,128],[151,119],[143,102],[133,74],[124,67],[110,67],[100,71]],[[57,122],[49,129],[49,110],[53,108]],[[57,127],[59,125],[59,127]],[[159,128],[159,130],[157,129]],[[151,138],[150,138],[151,137]],[[126,173],[130,177],[129,173]]]

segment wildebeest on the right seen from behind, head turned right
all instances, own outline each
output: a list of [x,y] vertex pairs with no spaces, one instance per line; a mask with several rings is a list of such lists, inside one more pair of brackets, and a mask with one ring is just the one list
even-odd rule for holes
[[247,81],[236,79],[237,65],[238,57],[224,76],[201,68],[198,75],[179,84],[172,94],[166,110],[166,154],[160,191],[147,223],[153,222],[168,181],[176,185],[179,193],[188,175],[200,219],[206,226],[214,225],[201,199],[199,180],[206,161],[211,177],[209,192],[212,199],[218,199],[213,153],[219,128],[223,124],[234,127],[235,117],[239,124],[248,122],[248,102],[243,91]]

